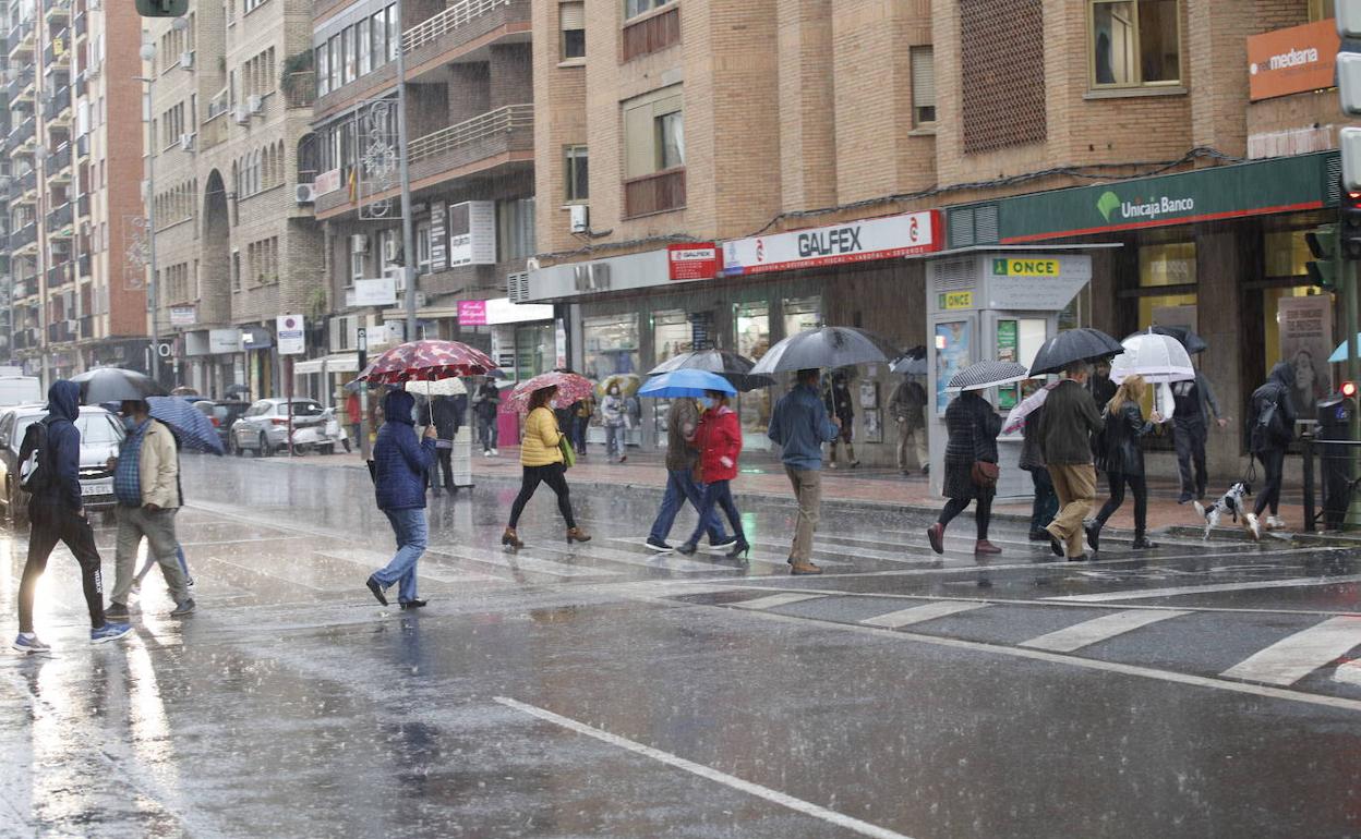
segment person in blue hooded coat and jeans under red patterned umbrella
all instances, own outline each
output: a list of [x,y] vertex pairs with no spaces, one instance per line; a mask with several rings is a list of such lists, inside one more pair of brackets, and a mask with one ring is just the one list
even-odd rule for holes
[[426,426],[425,439],[416,438],[415,397],[406,390],[392,390],[382,398],[382,427],[373,443],[373,492],[378,509],[392,524],[397,537],[397,552],[385,568],[369,575],[366,585],[382,605],[388,605],[387,590],[397,585],[397,604],[403,609],[419,609],[426,601],[416,600],[416,560],[425,553],[429,528],[425,518],[426,475],[436,461],[434,424]]

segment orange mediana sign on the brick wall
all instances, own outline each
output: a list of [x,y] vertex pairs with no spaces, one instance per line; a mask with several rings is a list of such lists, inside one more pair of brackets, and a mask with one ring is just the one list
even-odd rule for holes
[[1341,45],[1331,18],[1252,35],[1248,38],[1248,97],[1256,102],[1332,87]]

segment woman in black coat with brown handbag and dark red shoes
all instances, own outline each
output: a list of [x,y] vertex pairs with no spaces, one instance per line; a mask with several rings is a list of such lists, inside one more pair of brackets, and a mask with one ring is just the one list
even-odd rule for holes
[[1002,553],[988,541],[992,496],[998,487],[998,434],[1002,417],[976,390],[965,390],[945,412],[949,442],[945,447],[945,496],[936,524],[927,528],[931,549],[945,553],[945,529],[969,502],[977,502],[973,517],[977,529],[974,553]]

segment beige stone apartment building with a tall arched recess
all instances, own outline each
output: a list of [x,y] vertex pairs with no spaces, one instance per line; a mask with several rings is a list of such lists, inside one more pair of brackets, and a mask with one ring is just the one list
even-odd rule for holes
[[306,318],[309,351],[320,343],[321,228],[298,194],[316,145],[310,12],[229,0],[143,19],[155,330],[171,344],[169,375],[204,394],[283,393],[280,314]]

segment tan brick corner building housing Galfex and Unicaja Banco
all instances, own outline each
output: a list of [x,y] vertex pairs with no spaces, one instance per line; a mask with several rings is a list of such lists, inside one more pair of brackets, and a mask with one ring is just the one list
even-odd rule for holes
[[[570,306],[588,375],[702,344],[755,358],[821,324],[935,345],[927,262],[1025,245],[1089,249],[1059,325],[1198,328],[1234,417],[1282,358],[1327,388],[1341,332],[1304,233],[1337,203],[1328,0],[532,5],[527,299]],[[706,243],[716,269],[683,281],[675,247]],[[891,462],[896,377],[862,375],[862,457]],[[751,446],[772,396],[740,400]],[[1214,438],[1234,469],[1240,435]]]

